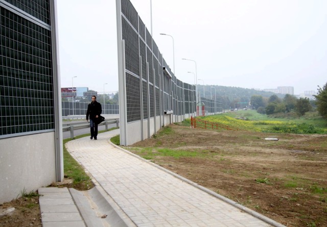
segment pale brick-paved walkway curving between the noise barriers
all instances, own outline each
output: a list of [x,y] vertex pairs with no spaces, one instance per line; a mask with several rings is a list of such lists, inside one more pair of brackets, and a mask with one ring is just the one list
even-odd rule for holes
[[112,145],[117,134],[66,147],[137,226],[284,226]]

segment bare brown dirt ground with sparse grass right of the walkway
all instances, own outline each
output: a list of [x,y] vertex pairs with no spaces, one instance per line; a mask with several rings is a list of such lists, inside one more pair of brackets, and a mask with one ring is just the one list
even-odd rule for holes
[[327,135],[169,127],[127,149],[196,151],[201,155],[152,161],[286,226],[327,226]]

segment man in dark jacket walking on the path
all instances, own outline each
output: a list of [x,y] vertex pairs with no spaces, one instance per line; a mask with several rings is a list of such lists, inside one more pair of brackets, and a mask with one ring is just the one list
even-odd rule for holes
[[90,128],[91,128],[91,137],[90,139],[97,139],[98,136],[98,123],[96,122],[97,118],[102,113],[101,104],[97,102],[97,97],[92,96],[92,102],[87,106],[86,111],[86,120],[88,122],[88,117],[90,118]]

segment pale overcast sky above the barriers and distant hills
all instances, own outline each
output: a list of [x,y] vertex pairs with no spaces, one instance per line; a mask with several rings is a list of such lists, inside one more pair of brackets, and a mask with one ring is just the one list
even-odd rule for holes
[[[132,0],[151,31],[150,0]],[[57,0],[61,86],[118,91],[115,0]],[[327,1],[152,1],[152,34],[175,75],[242,88],[327,82]],[[108,83],[104,85],[105,83]],[[202,81],[198,81],[202,85]]]

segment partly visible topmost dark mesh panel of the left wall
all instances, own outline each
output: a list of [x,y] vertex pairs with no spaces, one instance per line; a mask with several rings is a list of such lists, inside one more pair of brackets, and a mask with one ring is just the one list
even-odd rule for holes
[[49,0],[4,0],[18,9],[34,16],[35,18],[50,24]]

